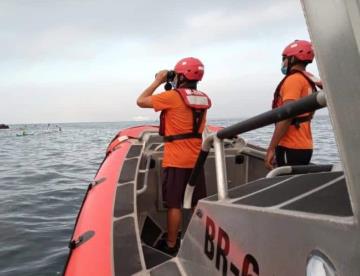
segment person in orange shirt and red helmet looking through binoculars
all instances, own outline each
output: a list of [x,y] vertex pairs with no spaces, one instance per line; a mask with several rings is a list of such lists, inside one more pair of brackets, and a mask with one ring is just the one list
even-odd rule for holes
[[[204,65],[199,59],[181,59],[174,71],[159,71],[153,83],[137,99],[138,106],[161,111],[159,134],[164,136],[165,142],[162,189],[168,208],[168,235],[159,249],[172,255],[176,254],[179,246],[177,237],[186,184],[201,149],[206,112],[211,107],[209,97],[197,90],[197,83],[203,75]],[[169,90],[153,95],[164,82],[167,82],[165,88]],[[205,196],[205,176],[202,172],[194,191],[193,206]]]

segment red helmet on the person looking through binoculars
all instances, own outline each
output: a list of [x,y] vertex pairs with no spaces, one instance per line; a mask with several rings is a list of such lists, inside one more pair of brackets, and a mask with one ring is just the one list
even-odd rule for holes
[[175,72],[188,80],[200,81],[204,75],[204,64],[197,58],[183,58],[175,65]]

